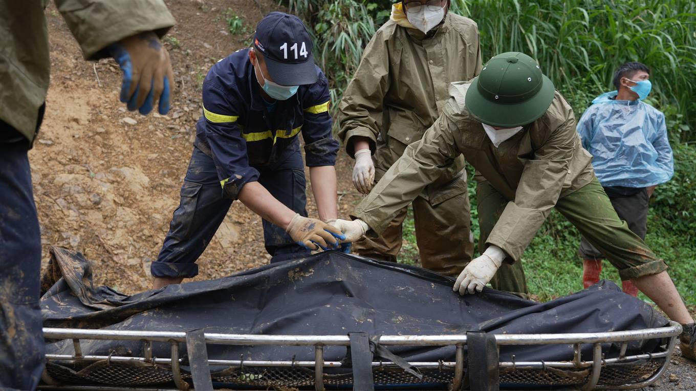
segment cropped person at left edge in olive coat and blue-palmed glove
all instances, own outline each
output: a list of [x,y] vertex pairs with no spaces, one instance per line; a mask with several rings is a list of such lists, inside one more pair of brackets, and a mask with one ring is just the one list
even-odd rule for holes
[[[113,57],[121,102],[169,109],[173,72],[159,38],[174,25],[164,2],[56,0],[84,57]],[[0,389],[33,390],[44,367],[39,309],[41,238],[27,152],[49,86],[47,0],[0,1]],[[89,129],[84,129],[86,132]]]

